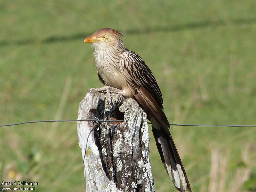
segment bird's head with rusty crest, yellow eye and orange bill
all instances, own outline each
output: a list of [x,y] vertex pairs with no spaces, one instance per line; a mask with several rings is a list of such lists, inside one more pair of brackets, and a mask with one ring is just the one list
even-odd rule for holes
[[109,45],[123,44],[122,37],[123,35],[116,29],[102,28],[86,37],[84,43]]

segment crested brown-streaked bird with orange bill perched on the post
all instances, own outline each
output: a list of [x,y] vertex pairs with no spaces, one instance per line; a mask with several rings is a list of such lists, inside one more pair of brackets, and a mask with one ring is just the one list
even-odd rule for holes
[[156,79],[141,57],[124,46],[122,38],[118,30],[102,28],[84,40],[84,43],[92,43],[98,77],[106,85],[99,90],[122,93],[140,104],[152,123],[156,147],[167,174],[178,191],[191,192],[169,131],[170,124],[163,110],[163,97]]

